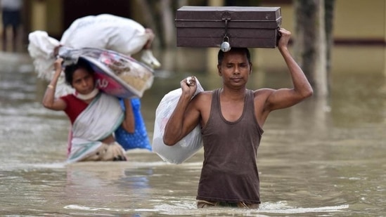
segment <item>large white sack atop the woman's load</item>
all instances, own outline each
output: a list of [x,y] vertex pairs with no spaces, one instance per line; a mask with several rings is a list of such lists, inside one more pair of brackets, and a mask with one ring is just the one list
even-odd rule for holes
[[78,18],[63,33],[60,44],[72,48],[103,48],[125,55],[141,51],[149,35],[138,22],[110,14]]

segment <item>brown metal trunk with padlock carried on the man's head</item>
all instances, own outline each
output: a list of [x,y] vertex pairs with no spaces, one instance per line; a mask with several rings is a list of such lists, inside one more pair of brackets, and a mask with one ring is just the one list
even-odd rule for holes
[[281,8],[183,6],[175,25],[177,46],[275,48]]

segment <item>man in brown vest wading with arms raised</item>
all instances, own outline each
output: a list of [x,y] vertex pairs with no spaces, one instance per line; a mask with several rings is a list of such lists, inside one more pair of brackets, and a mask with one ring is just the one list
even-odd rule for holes
[[288,51],[290,32],[281,28],[278,50],[287,64],[293,88],[245,88],[252,73],[247,48],[219,51],[218,73],[222,88],[198,93],[193,78],[181,81],[182,94],[165,126],[164,143],[174,145],[200,124],[204,163],[198,184],[198,207],[238,206],[256,209],[260,204],[257,147],[264,122],[274,110],[290,107],[312,95],[302,69]]

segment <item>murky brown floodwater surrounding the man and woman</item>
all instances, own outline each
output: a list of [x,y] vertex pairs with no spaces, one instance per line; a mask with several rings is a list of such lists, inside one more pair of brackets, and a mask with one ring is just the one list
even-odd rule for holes
[[[353,55],[351,48],[340,53]],[[65,114],[41,106],[46,83],[37,79],[30,61],[1,55],[5,56],[0,67],[1,216],[386,213],[386,88],[382,67],[369,65],[361,71],[355,66],[356,60],[347,60],[345,69],[352,70],[335,67],[331,74],[330,98],[311,98],[271,113],[257,158],[262,199],[259,210],[197,209],[202,151],[178,165],[167,164],[147,150],[130,150],[128,162],[66,165],[69,121]],[[366,55],[354,58],[366,64]],[[373,60],[371,55],[367,58]],[[382,63],[377,64],[384,60],[380,58]],[[179,81],[191,74],[205,89],[220,84],[215,73],[156,72],[152,88],[141,100],[150,140],[162,96],[179,88]],[[255,70],[248,85],[278,88],[290,83],[286,73]]]

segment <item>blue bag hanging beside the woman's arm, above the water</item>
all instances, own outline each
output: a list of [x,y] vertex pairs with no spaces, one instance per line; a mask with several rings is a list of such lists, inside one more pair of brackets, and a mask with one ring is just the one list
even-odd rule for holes
[[[125,110],[123,100],[120,100],[121,107]],[[131,107],[134,112],[135,126],[134,133],[128,133],[122,126],[115,131],[115,140],[120,143],[124,150],[131,150],[135,148],[152,150],[150,140],[148,138],[148,131],[146,131],[145,121],[143,121],[141,114],[141,101],[139,98],[131,99]]]

